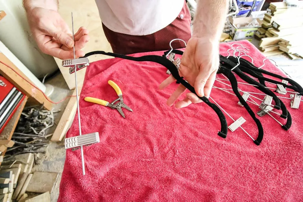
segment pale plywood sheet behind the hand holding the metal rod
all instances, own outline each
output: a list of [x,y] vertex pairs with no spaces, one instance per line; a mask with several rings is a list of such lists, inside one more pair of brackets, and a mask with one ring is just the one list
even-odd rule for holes
[[[99,12],[97,5],[94,0],[65,0],[59,1],[59,13],[65,22],[68,24],[70,29],[72,30],[72,17],[71,13],[73,12],[74,19],[74,31],[75,33],[78,29],[83,26],[88,29],[90,41],[86,44],[86,46],[82,49],[85,53],[90,51],[102,50],[111,52],[112,48],[108,43],[103,29],[102,22],[99,17]],[[89,61],[97,61],[105,58],[110,58],[105,55],[93,55],[89,57]],[[68,72],[68,68],[62,67],[62,60],[55,58],[55,61],[68,84],[69,89],[75,88],[75,75],[70,75]],[[86,68],[77,72],[78,83],[83,83],[83,79],[85,76]]]

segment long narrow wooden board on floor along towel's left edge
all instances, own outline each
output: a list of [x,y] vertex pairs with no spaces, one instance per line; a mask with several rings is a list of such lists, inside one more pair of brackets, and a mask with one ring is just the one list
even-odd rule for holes
[[[79,84],[78,92],[81,92],[81,90],[82,90],[82,84]],[[76,90],[74,90],[72,95],[76,95]],[[68,130],[68,127],[70,126],[71,122],[74,120],[76,110],[77,110],[77,98],[71,97],[52,135],[51,141],[54,142],[62,141],[63,137],[65,136]]]

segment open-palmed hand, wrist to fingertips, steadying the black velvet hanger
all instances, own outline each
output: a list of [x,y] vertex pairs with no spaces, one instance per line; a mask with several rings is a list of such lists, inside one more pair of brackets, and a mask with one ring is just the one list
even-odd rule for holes
[[[196,93],[200,97],[209,98],[211,88],[215,82],[216,73],[219,67],[219,48],[218,42],[210,41],[208,38],[192,37],[182,55],[179,68],[180,76],[183,76],[189,84],[194,86]],[[170,75],[159,86],[161,90],[176,81]],[[172,104],[186,91],[180,84],[170,98],[167,100],[168,106]],[[191,103],[202,102],[194,93],[187,93],[186,97],[175,104],[176,108],[187,107]]]

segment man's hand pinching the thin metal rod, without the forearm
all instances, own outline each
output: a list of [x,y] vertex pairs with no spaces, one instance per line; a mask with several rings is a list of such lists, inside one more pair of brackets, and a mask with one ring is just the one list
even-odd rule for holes
[[68,25],[55,10],[41,7],[27,12],[28,23],[40,50],[48,55],[65,60],[74,58],[75,43],[76,58],[85,55],[85,44],[89,41],[88,30],[80,27],[75,33],[75,42]]

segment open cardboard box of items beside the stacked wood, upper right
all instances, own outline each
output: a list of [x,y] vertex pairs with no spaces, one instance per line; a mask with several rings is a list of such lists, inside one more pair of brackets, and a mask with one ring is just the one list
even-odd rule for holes
[[[247,26],[253,21],[257,22],[254,27]],[[252,17],[232,18],[230,16],[229,22],[231,23],[231,38],[234,40],[252,38],[262,25],[260,19]]]

